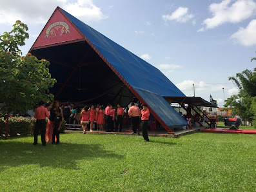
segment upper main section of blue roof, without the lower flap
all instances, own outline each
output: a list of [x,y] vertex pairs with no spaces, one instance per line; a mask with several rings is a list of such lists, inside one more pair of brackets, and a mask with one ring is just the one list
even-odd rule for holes
[[186,97],[159,69],[68,12],[63,12],[133,88],[141,88],[166,97]]

